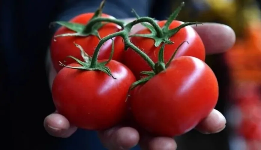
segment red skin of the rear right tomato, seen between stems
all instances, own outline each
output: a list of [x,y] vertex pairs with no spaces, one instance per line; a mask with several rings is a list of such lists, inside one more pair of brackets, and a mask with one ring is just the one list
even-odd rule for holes
[[[160,27],[163,27],[165,25],[166,21],[159,21],[158,25]],[[181,25],[184,22],[174,20],[169,29],[174,29]],[[138,31],[136,34],[150,34],[151,32],[149,29],[143,29]],[[161,47],[155,47],[154,40],[150,38],[143,38],[143,37],[132,37],[131,42],[136,45],[138,48],[143,50],[154,62],[158,61],[158,52]],[[165,45],[164,49],[164,60],[167,62],[170,60],[171,56],[175,52],[175,50],[178,48],[182,42],[187,41],[189,44],[184,43],[177,52],[175,58],[179,56],[193,56],[196,58],[201,59],[202,61],[205,61],[205,46],[197,34],[197,32],[191,27],[186,26],[182,28],[179,32],[177,32],[175,35],[170,37],[170,41],[173,41],[174,44],[167,44]],[[135,61],[134,61],[135,60]],[[143,58],[141,58],[140,55],[138,55],[134,50],[128,49],[124,52],[124,64],[126,64],[134,73],[134,75],[137,77],[137,79],[140,78],[140,72],[141,71],[150,71],[151,68],[149,65],[144,61]]]

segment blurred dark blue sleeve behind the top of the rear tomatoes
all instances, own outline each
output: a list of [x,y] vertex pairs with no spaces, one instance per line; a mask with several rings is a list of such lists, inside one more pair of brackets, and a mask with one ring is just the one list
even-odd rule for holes
[[[81,13],[94,12],[100,3],[101,0],[67,0],[57,20],[68,21]],[[133,8],[140,16],[147,16],[151,5],[152,0],[107,0],[103,12],[121,19],[135,17]]]

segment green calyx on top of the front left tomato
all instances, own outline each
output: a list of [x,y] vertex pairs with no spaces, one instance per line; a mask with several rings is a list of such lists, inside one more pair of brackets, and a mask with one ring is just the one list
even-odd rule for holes
[[[111,71],[110,71],[110,68],[106,66],[106,64],[108,64],[111,59],[112,59],[112,56],[113,56],[113,51],[114,51],[114,42],[112,44],[112,52],[111,52],[111,55],[110,55],[110,58],[107,60],[107,61],[104,61],[104,62],[97,62],[97,58],[95,59],[94,57],[92,58],[91,56],[89,56],[82,48],[82,46],[74,43],[75,46],[77,48],[79,48],[80,52],[81,52],[81,56],[83,58],[84,61],[81,61],[79,60],[78,58],[75,58],[73,56],[67,56],[68,58],[72,58],[74,59],[78,64],[80,64],[81,66],[79,67],[73,67],[73,66],[68,66],[68,65],[65,65],[61,62],[60,65],[61,66],[64,66],[64,67],[67,67],[67,68],[72,68],[72,69],[78,69],[78,70],[100,70],[106,74],[108,74],[109,76],[113,77],[113,79],[116,79]],[[96,63],[91,63],[95,61]]]

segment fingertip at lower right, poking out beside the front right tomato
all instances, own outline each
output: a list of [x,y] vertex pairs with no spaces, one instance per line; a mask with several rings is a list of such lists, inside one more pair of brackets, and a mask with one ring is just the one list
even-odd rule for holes
[[213,110],[196,129],[203,134],[212,134],[222,131],[226,127],[225,117],[217,110]]

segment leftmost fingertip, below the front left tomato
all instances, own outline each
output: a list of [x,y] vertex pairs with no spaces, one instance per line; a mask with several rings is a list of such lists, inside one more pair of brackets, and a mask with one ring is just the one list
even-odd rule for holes
[[53,113],[44,119],[45,130],[54,137],[70,137],[76,130],[76,127],[70,127],[69,121],[58,113]]

